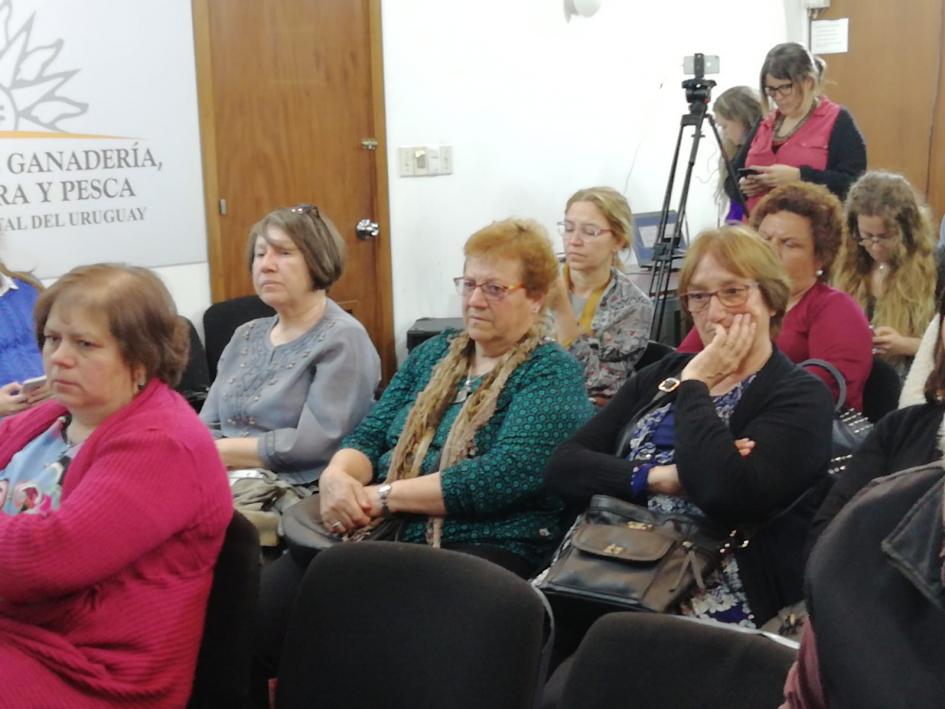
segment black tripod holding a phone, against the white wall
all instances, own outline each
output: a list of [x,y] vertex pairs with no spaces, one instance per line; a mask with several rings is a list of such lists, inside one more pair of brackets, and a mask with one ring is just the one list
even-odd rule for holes
[[[663,197],[663,208],[660,213],[660,223],[656,232],[656,242],[653,244],[653,272],[650,275],[649,295],[653,300],[653,322],[650,324],[650,339],[661,341],[663,331],[663,320],[666,315],[666,302],[670,297],[669,281],[673,270],[673,261],[682,258],[678,252],[679,244],[682,241],[682,225],[686,220],[686,200],[689,198],[689,183],[692,180],[692,170],[696,164],[696,155],[699,152],[699,141],[702,139],[702,124],[708,120],[712,127],[712,134],[715,136],[715,142],[719,146],[719,152],[725,159],[725,170],[728,173],[732,184],[737,185],[735,171],[732,169],[732,163],[722,149],[722,138],[719,136],[719,129],[715,125],[715,119],[707,112],[709,101],[711,101],[712,87],[715,82],[704,78],[703,55],[696,54],[695,78],[686,79],[682,82],[686,89],[686,100],[689,102],[689,113],[683,114],[679,124],[679,135],[676,137],[676,150],[673,152],[673,164],[669,171],[669,182],[666,185],[666,194]],[[676,179],[676,166],[679,163],[679,148],[682,145],[683,129],[686,126],[693,126],[695,130],[692,134],[692,148],[689,150],[689,162],[686,165],[686,175],[683,178],[682,192],[679,195],[679,206],[676,209],[676,224],[673,227],[673,233],[670,236],[666,234],[666,227],[669,224],[669,205],[673,197],[673,183]],[[745,205],[745,199],[741,193],[736,190],[735,199],[741,205],[745,213],[748,209]],[[674,342],[673,344],[678,344]]]

